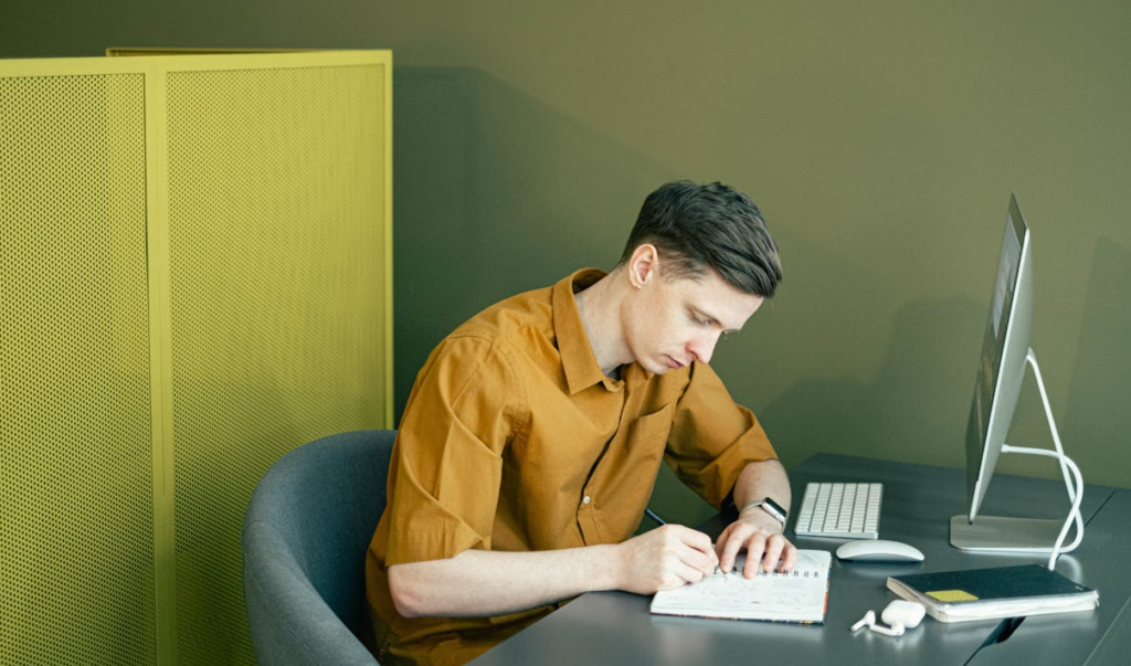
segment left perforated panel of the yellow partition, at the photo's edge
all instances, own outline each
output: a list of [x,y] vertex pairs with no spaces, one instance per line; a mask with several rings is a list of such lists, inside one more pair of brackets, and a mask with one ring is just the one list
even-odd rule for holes
[[0,663],[156,655],[144,78],[0,77]]

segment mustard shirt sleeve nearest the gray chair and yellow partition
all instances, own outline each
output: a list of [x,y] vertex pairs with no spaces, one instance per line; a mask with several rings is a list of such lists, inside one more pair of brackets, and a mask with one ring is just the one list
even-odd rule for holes
[[446,339],[421,370],[390,469],[386,565],[491,548],[521,386],[491,340]]

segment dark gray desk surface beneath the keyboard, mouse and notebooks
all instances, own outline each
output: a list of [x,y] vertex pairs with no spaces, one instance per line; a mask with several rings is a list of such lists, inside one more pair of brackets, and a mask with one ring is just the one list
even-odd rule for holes
[[[951,664],[977,651],[998,621],[944,624],[926,617],[901,638],[848,626],[865,611],[877,614],[895,597],[888,576],[975,569],[1047,557],[974,555],[951,548],[949,519],[966,509],[959,469],[819,455],[789,472],[794,496],[809,481],[880,481],[884,504],[880,534],[926,555],[922,564],[851,564],[834,557],[826,624],[796,625],[653,616],[649,597],[627,593],[582,595],[473,661],[474,666],[586,664],[629,666],[734,665],[759,655],[784,664]],[[1056,517],[1068,510],[1061,482],[998,475],[984,510],[1000,516]],[[1131,663],[1131,491],[1089,486],[1081,508],[1083,543],[1061,556],[1056,570],[1099,590],[1095,612],[1028,617],[1009,640],[983,649],[978,664],[1125,666]],[[702,528],[717,534],[727,516]],[[793,536],[791,534],[791,536]],[[841,542],[793,537],[802,548],[836,550]]]

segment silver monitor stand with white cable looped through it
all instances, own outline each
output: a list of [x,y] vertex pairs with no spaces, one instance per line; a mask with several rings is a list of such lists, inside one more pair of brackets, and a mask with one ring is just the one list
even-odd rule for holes
[[[1048,429],[1052,431],[1053,443],[1056,446],[1056,450],[1027,449],[1009,444],[1003,446],[1001,450],[1003,453],[1026,453],[1056,458],[1061,464],[1061,473],[1064,475],[1064,486],[1068,490],[1068,498],[1072,502],[1072,509],[1068,518],[1063,521],[978,516],[974,519],[974,522],[970,522],[966,514],[953,516],[950,519],[950,545],[961,551],[1050,553],[1048,568],[1052,569],[1060,553],[1076,550],[1083,538],[1083,519],[1080,516],[1080,500],[1083,498],[1083,477],[1080,475],[1080,468],[1076,466],[1076,462],[1064,455],[1060,433],[1056,430],[1056,422],[1053,420],[1053,412],[1048,406],[1048,393],[1045,392],[1045,382],[1041,377],[1041,367],[1037,365],[1037,356],[1033,353],[1031,347],[1026,354],[1025,360],[1033,367],[1033,372],[1036,375],[1037,388],[1041,389],[1041,400],[1045,406],[1045,416],[1048,420]],[[1071,544],[1061,548],[1073,521],[1076,521],[1076,538]]]

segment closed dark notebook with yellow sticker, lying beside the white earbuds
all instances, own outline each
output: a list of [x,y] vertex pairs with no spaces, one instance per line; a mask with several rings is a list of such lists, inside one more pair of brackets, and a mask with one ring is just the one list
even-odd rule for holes
[[1099,594],[1039,564],[893,576],[888,589],[941,622],[1088,611]]

